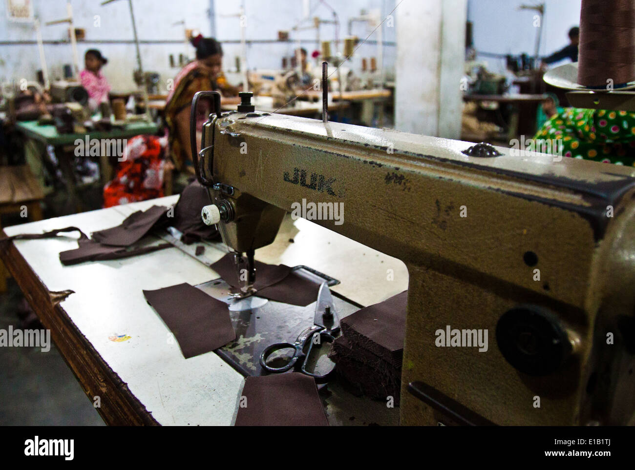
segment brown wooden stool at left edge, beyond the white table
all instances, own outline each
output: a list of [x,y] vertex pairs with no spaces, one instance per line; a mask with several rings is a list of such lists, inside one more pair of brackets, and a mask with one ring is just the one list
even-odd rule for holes
[[[42,219],[42,188],[28,166],[0,166],[0,230],[3,214],[20,214],[31,220]],[[8,273],[0,261],[0,292],[6,291]]]

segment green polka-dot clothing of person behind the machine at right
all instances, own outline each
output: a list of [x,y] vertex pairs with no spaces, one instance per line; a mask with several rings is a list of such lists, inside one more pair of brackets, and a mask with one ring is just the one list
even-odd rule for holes
[[539,139],[557,140],[563,157],[635,166],[635,113],[564,108],[545,122]]

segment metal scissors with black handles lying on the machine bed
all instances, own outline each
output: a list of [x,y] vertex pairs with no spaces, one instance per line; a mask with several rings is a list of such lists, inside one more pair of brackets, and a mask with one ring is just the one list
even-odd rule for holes
[[[340,318],[337,316],[335,305],[333,305],[333,297],[331,296],[331,290],[328,288],[326,282],[324,282],[318,292],[318,303],[316,304],[316,313],[313,318],[313,325],[302,331],[300,336],[295,340],[295,343],[275,343],[262,351],[260,354],[260,365],[267,372],[286,372],[293,367],[300,366],[300,372],[306,375],[311,375],[316,379],[324,379],[327,375],[333,372],[335,364],[325,374],[314,374],[307,370],[307,362],[311,357],[311,350],[314,344],[333,343],[335,337],[340,331]],[[316,336],[318,335],[318,336]],[[319,341],[318,341],[319,337]],[[267,358],[281,349],[293,349],[293,356],[291,360],[283,367],[271,367],[267,365]],[[302,363],[298,363],[298,360],[304,358]]]

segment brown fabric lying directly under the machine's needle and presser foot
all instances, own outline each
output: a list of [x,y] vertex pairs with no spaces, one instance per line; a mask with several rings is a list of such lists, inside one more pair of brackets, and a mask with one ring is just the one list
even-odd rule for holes
[[[255,261],[256,282],[253,287],[258,297],[276,302],[305,307],[316,301],[320,284],[291,271],[285,264],[267,264]],[[226,254],[211,265],[227,284],[239,288],[241,282],[234,263],[234,255]]]

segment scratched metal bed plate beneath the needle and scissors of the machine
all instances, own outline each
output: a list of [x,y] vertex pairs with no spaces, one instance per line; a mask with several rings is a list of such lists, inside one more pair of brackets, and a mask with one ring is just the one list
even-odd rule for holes
[[[328,280],[304,268],[296,269],[297,274],[313,278],[318,282]],[[196,285],[215,299],[230,305],[229,314],[236,330],[236,341],[227,344],[217,353],[225,362],[243,375],[263,375],[258,358],[262,350],[273,343],[293,343],[302,330],[313,324],[316,303],[305,307],[286,303],[267,301],[264,305],[248,310],[236,310],[229,295],[229,285],[218,278]],[[340,320],[361,308],[337,292],[332,292],[335,308]],[[260,297],[250,297],[253,304],[262,302]],[[249,302],[244,299],[243,302]],[[323,353],[328,351],[324,349]],[[328,360],[328,359],[327,359]],[[356,421],[356,424],[380,424],[396,426],[399,424],[399,408],[387,408],[383,401],[371,400],[365,396],[355,396],[341,383],[337,374],[331,375],[326,384],[318,385],[323,400],[324,412],[331,425]]]

